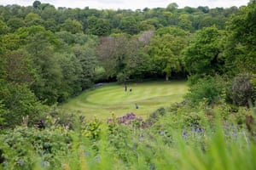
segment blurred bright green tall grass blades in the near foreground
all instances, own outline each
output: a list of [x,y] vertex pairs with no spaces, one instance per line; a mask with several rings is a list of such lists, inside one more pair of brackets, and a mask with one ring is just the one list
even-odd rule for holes
[[[172,137],[152,132],[144,132],[143,136],[139,136],[138,133],[133,132],[125,137],[123,147],[117,147],[109,142],[106,129],[102,130],[98,150],[87,149],[90,154],[86,155],[84,154],[86,149],[81,150],[81,147],[86,148],[83,144],[77,150],[73,150],[78,156],[69,159],[76,162],[69,163],[69,169],[256,168],[256,147],[245,131],[237,133],[236,137],[232,136],[229,140],[226,139],[223,127],[220,126],[216,127],[214,133],[190,133],[186,138],[183,137],[181,129],[172,132]],[[164,138],[170,141],[165,141]],[[120,142],[122,141],[120,139]]]

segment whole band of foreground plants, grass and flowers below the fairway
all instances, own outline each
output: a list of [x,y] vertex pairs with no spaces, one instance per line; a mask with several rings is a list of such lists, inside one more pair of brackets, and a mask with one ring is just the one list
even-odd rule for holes
[[[255,134],[245,123],[245,115],[255,116],[255,111],[241,109],[227,116],[229,108],[223,106],[201,104],[192,109],[173,104],[144,122],[126,115],[108,122],[73,117],[64,125],[63,120],[48,117],[37,127],[17,127],[1,135],[1,165],[3,169],[255,169]],[[250,126],[255,129],[255,124]]]

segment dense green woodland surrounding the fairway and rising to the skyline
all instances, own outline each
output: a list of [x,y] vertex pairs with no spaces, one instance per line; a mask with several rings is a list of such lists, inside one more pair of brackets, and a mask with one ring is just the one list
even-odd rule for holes
[[[215,107],[228,120],[256,101],[255,0],[231,8],[171,3],[135,11],[55,8],[39,1],[0,6],[0,37],[1,129],[26,121],[33,127],[54,115],[52,107],[97,82],[188,79],[189,93],[172,111],[183,105],[192,121],[200,119],[195,112]],[[235,122],[244,124],[244,117]],[[88,126],[95,130],[97,123]],[[68,143],[58,139],[59,131],[49,135]]]

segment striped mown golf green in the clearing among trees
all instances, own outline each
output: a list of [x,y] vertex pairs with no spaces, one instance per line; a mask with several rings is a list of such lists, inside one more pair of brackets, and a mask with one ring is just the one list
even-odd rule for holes
[[128,112],[145,118],[161,106],[181,101],[187,89],[186,82],[130,83],[127,84],[127,92],[124,85],[108,84],[70,99],[61,105],[61,109],[79,112],[90,118],[108,118],[112,113],[124,116]]

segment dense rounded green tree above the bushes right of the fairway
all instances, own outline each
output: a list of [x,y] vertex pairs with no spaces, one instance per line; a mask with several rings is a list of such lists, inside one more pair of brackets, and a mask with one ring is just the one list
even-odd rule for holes
[[184,64],[189,74],[214,75],[224,65],[221,59],[222,32],[215,26],[197,31],[195,38],[184,50]]

